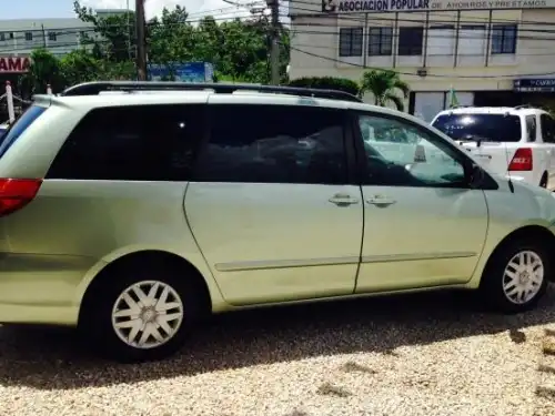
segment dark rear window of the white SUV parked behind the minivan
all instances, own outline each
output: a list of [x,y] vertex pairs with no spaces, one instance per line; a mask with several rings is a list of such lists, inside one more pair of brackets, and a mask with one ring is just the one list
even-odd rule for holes
[[440,115],[432,125],[453,140],[521,141],[521,118],[518,115],[451,113]]

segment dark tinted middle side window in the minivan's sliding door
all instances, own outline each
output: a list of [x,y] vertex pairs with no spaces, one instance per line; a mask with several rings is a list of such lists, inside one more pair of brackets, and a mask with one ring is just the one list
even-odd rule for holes
[[301,105],[210,105],[199,154],[201,182],[345,184],[343,110]]

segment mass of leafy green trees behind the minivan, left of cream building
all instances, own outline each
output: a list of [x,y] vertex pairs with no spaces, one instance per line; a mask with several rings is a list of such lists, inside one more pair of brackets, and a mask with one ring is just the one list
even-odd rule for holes
[[[58,61],[61,79],[68,85],[99,79],[134,79],[134,13],[99,17],[92,9],[82,7],[79,0],[73,6],[78,17],[91,23],[91,30],[82,35],[82,50]],[[176,6],[148,21],[145,34],[149,61],[167,65],[170,80],[174,79],[176,64],[205,61],[214,65],[222,80],[270,81],[270,23],[265,17],[222,23],[206,17],[193,26],[185,8]],[[283,27],[280,41],[282,82],[287,81],[289,44],[290,33]]]

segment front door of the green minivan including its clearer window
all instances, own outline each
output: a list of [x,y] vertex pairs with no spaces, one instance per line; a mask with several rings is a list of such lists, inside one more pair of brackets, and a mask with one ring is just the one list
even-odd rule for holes
[[[380,113],[356,120],[364,153],[356,292],[467,282],[485,242],[487,206],[484,192],[465,184],[466,156],[408,120]],[[395,136],[395,146],[364,141],[367,129],[384,140]]]

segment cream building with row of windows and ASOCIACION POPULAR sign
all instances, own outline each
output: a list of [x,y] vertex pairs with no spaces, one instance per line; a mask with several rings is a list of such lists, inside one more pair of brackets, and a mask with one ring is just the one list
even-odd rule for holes
[[452,88],[463,105],[555,108],[555,0],[291,0],[290,17],[291,79],[391,69],[427,121]]

